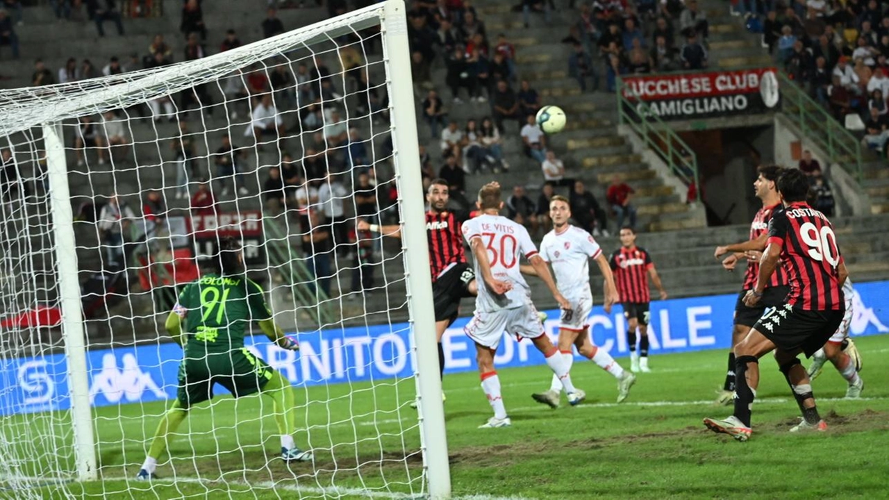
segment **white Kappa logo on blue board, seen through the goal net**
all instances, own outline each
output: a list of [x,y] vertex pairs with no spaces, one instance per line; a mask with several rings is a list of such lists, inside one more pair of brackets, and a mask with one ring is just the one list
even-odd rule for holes
[[102,368],[92,376],[90,386],[90,403],[96,396],[102,395],[109,403],[126,399],[129,402],[139,401],[145,391],[151,391],[156,398],[167,399],[167,394],[157,386],[151,374],[142,371],[136,357],[128,352],[123,357],[124,368],[117,367],[117,357],[108,352],[102,357]]

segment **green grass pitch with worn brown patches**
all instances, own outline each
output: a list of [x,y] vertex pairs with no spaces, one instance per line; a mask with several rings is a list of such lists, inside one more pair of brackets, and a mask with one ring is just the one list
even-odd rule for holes
[[[845,381],[829,364],[813,383],[829,423],[826,433],[788,432],[797,419],[796,404],[774,360],[762,359],[754,433],[747,443],[701,424],[705,416],[731,413],[710,403],[725,374],[725,351],[653,356],[653,373],[640,374],[621,405],[613,404],[613,377],[589,361],[575,361],[572,370],[587,402],[568,407],[563,398],[557,410],[530,397],[549,386],[547,367],[503,369],[509,429],[477,429],[492,412],[475,372],[446,375],[453,493],[541,499],[885,497],[889,335],[856,342],[864,360],[863,399],[841,399]],[[619,361],[629,366],[629,360]],[[412,379],[299,388],[297,394],[303,431],[296,439],[316,450],[314,467],[288,467],[275,459],[270,401],[252,396],[196,407],[172,443],[172,458],[162,459],[157,473],[163,480],[152,485],[126,480],[138,472],[156,415],[164,409],[132,404],[95,410],[102,480],[65,488],[74,496],[112,498],[393,498],[421,491],[420,431],[407,406]],[[55,486],[40,492],[64,496]],[[0,496],[16,495],[0,489]]]

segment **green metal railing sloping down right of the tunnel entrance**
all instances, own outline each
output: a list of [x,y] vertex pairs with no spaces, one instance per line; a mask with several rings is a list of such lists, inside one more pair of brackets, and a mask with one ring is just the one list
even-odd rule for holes
[[783,71],[778,71],[778,83],[784,101],[781,105],[784,116],[799,127],[806,139],[815,142],[828,154],[831,165],[842,165],[861,184],[864,178],[861,140],[846,130]]

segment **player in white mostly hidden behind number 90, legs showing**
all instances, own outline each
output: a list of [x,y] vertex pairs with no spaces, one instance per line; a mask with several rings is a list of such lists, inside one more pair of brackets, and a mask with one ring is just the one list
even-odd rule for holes
[[812,355],[812,364],[809,365],[808,372],[809,378],[814,380],[815,377],[821,375],[821,367],[829,359],[837,368],[839,375],[843,375],[845,381],[849,383],[849,387],[845,391],[846,399],[858,399],[861,398],[864,381],[858,376],[858,372],[861,370],[861,357],[852,339],[849,338],[849,325],[852,323],[854,315],[853,297],[855,296],[852,279],[845,278],[843,294],[845,295],[843,322],[839,324],[837,332],[830,337],[828,343],[825,343],[824,347]]

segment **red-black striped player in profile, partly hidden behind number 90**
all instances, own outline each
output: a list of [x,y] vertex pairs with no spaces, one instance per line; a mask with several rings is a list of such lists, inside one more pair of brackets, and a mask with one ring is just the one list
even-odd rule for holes
[[747,259],[747,271],[744,273],[744,286],[734,305],[734,327],[732,330],[732,349],[728,353],[728,369],[725,372],[725,384],[720,392],[717,403],[723,405],[732,404],[734,398],[734,346],[741,342],[765,313],[766,307],[775,307],[784,302],[790,289],[788,286],[787,272],[779,267],[772,275],[771,281],[765,287],[763,300],[757,307],[748,307],[744,303],[744,296],[757,285],[759,276],[759,256],[765,250],[765,239],[768,233],[769,221],[772,220],[774,211],[781,207],[781,198],[775,188],[775,181],[781,175],[783,169],[777,165],[761,165],[757,172],[757,180],[753,182],[757,198],[762,200],[763,206],[757,211],[756,217],[750,223],[750,237],[748,241],[735,245],[717,246],[714,256],[718,259],[725,254],[730,254],[723,261],[726,270],[734,270],[735,265],[741,259]]

